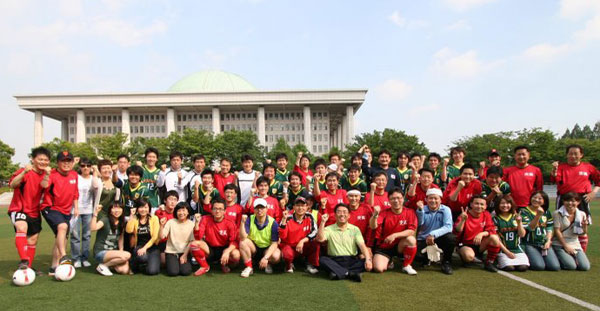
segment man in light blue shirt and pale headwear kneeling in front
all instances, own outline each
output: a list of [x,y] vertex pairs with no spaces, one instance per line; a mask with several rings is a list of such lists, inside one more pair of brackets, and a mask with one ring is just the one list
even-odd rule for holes
[[421,250],[435,246],[442,250],[442,272],[452,274],[452,252],[456,247],[456,236],[452,234],[452,212],[442,204],[442,191],[430,188],[426,193],[427,205],[417,204],[419,233],[417,235],[417,254]]

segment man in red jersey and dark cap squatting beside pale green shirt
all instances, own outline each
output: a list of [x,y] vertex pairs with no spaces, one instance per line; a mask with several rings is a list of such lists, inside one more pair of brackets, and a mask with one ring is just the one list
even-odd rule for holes
[[285,271],[294,272],[294,259],[303,256],[308,259],[306,271],[317,274],[319,270],[319,245],[314,241],[317,237],[317,221],[311,213],[307,213],[308,206],[304,197],[297,197],[294,201],[294,213],[284,217],[279,224],[279,238],[281,255],[285,261]]

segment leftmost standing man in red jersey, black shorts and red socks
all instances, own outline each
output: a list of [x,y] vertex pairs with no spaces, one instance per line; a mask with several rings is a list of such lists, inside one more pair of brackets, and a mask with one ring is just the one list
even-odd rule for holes
[[43,147],[31,151],[31,163],[17,170],[9,181],[14,189],[8,215],[15,227],[15,246],[21,262],[19,269],[31,267],[42,220],[40,200],[50,178],[50,151]]

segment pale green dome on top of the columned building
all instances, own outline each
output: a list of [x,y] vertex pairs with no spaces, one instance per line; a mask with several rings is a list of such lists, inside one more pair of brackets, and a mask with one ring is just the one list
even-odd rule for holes
[[167,92],[243,92],[256,88],[244,78],[221,70],[205,70],[193,73],[173,84]]

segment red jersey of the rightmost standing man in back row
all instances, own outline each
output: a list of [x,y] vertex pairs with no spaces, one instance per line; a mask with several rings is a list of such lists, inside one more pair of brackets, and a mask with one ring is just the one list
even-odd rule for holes
[[592,182],[600,186],[600,172],[589,163],[579,163],[577,166],[571,166],[567,163],[558,165],[556,177],[551,180],[556,183],[558,194],[563,195],[567,192],[590,193],[592,192]]

